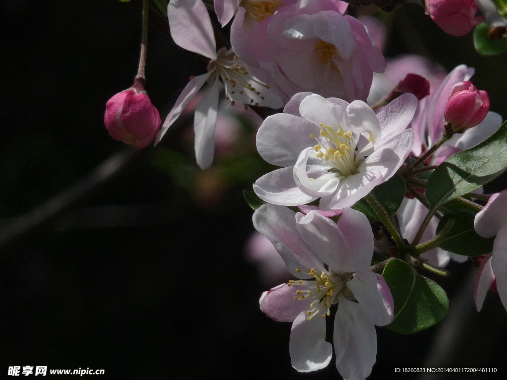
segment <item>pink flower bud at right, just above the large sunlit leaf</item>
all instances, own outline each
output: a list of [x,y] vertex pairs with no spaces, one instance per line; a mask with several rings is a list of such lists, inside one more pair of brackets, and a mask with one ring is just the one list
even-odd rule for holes
[[488,93],[479,91],[472,82],[466,81],[452,87],[444,118],[453,132],[461,133],[481,123],[488,111]]

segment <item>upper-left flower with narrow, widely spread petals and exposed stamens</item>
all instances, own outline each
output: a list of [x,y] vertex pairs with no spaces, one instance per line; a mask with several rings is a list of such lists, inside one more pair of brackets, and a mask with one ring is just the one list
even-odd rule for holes
[[268,90],[268,86],[251,75],[232,49],[216,51],[213,27],[202,0],[171,0],[167,6],[169,27],[174,42],[187,50],[210,59],[207,73],[192,77],[167,115],[155,143],[167,132],[187,104],[206,82],[209,89],[196,107],[194,116],[195,153],[197,164],[206,169],[214,154],[214,134],[220,83],[232,104],[263,105],[281,108],[281,100]]

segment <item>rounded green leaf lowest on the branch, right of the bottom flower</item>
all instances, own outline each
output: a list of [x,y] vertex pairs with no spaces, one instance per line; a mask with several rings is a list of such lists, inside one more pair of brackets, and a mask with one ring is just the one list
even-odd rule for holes
[[447,314],[449,300],[436,282],[418,275],[403,260],[387,263],[382,273],[394,300],[394,321],[389,330],[411,334],[438,323]]

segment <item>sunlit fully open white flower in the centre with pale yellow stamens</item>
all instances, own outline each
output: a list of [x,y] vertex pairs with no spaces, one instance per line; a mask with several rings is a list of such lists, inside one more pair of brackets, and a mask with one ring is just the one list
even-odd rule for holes
[[283,168],[259,178],[254,191],[285,206],[321,198],[320,211],[340,214],[403,164],[412,149],[413,132],[406,128],[416,105],[414,95],[403,94],[375,115],[360,100],[295,95],[284,113],[259,128],[261,157]]

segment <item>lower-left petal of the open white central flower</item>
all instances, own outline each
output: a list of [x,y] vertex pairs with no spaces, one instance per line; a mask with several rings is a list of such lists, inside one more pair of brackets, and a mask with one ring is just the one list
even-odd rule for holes
[[253,185],[259,198],[274,205],[297,206],[317,198],[303,193],[294,181],[294,167],[276,169],[259,178]]

